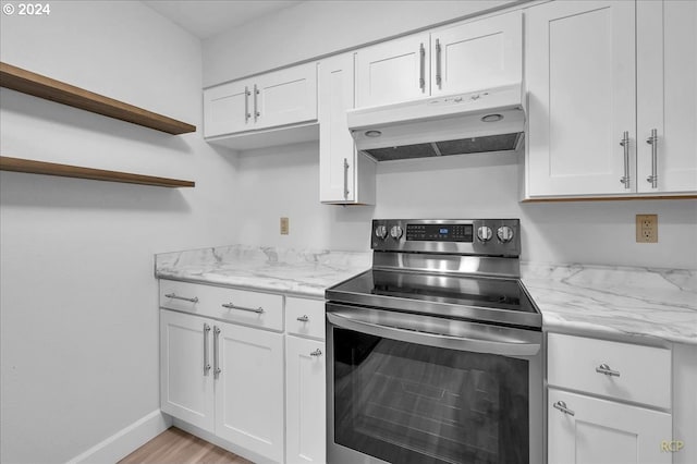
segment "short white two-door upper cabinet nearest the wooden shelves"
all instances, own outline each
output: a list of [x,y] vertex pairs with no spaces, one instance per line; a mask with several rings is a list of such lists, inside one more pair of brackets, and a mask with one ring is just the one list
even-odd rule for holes
[[317,69],[307,63],[204,90],[204,135],[215,137],[317,119]]

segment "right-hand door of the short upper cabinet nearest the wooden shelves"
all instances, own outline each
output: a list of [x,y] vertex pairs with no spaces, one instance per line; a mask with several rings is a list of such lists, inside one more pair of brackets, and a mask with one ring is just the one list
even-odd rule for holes
[[254,129],[317,119],[317,64],[307,63],[254,78]]

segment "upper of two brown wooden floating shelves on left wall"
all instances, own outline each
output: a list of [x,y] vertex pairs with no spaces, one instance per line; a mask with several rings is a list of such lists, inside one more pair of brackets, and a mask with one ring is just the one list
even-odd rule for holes
[[0,86],[168,134],[196,132],[195,125],[2,62],[0,62]]

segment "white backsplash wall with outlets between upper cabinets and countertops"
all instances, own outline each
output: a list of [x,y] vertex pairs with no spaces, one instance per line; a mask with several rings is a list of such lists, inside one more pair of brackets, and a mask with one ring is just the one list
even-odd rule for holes
[[[241,243],[365,251],[374,217],[513,217],[525,260],[697,268],[697,200],[521,204],[523,154],[480,154],[379,163],[377,206],[320,205],[318,156],[316,143],[239,155]],[[635,243],[637,213],[658,215],[659,243]]]

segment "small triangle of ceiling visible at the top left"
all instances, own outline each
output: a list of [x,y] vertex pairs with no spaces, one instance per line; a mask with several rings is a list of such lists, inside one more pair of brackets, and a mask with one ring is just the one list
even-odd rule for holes
[[164,17],[200,39],[299,3],[299,0],[146,0]]

